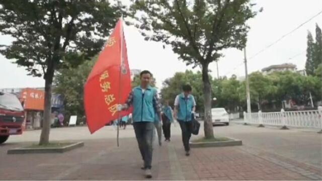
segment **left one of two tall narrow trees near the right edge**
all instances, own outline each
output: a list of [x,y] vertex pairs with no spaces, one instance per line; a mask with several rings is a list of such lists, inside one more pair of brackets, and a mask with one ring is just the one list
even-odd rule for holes
[[306,48],[306,63],[305,70],[308,75],[314,72],[314,41],[311,32],[307,32],[307,48]]

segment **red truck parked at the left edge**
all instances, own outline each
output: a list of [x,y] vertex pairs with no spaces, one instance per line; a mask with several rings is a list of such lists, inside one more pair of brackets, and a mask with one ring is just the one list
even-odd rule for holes
[[24,108],[16,95],[0,92],[0,144],[10,135],[22,134]]

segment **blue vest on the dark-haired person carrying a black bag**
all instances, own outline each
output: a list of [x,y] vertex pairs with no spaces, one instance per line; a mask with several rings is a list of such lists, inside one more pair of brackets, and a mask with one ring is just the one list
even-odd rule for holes
[[188,95],[186,99],[183,94],[180,94],[177,119],[181,121],[191,121],[191,112],[193,107],[193,96]]

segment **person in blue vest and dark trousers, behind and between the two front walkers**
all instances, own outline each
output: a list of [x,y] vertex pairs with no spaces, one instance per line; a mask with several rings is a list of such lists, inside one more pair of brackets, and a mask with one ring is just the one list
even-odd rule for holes
[[170,142],[171,137],[171,123],[173,123],[173,112],[171,107],[169,106],[169,101],[165,102],[164,107],[162,108],[163,115],[165,116],[162,124],[163,133],[165,135],[165,141]]

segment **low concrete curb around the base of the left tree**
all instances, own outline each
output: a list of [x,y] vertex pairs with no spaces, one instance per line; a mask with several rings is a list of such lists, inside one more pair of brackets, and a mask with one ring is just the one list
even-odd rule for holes
[[13,148],[9,149],[7,151],[7,154],[28,154],[28,153],[64,153],[66,151],[70,151],[75,148],[83,147],[84,142],[77,142],[73,143],[64,147],[48,147],[48,148],[25,148],[25,147],[20,147],[20,148]]

